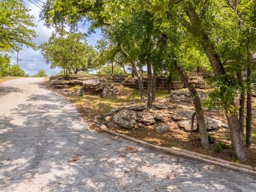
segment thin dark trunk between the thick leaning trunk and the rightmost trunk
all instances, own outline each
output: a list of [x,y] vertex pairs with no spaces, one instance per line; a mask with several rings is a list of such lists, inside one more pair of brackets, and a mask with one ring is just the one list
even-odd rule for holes
[[240,99],[239,99],[239,123],[241,127],[241,134],[244,138],[244,102],[245,102],[245,89],[243,85],[242,72],[237,73],[238,83],[241,87]]

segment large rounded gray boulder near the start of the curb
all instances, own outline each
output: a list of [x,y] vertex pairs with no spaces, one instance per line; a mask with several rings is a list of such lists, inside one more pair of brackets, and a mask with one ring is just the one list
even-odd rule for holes
[[137,121],[137,115],[134,111],[125,109],[118,112],[113,121],[125,129],[133,129]]

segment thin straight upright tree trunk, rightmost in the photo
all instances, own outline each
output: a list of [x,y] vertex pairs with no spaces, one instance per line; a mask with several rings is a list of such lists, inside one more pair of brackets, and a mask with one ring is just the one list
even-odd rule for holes
[[246,78],[246,147],[251,147],[252,144],[252,90],[251,90],[251,73],[252,63],[250,60],[250,51],[247,50],[247,78]]

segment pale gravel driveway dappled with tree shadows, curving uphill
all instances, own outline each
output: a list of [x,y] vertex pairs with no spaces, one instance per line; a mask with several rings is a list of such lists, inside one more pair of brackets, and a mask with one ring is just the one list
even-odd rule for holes
[[256,191],[253,175],[89,130],[42,81],[0,85],[0,191]]

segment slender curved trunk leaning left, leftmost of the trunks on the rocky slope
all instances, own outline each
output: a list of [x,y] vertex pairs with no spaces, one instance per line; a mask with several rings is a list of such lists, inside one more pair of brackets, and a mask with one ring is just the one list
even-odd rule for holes
[[[122,44],[119,44],[121,52],[125,55],[125,57],[129,57],[129,54],[124,50],[124,47]],[[144,86],[143,86],[143,80],[142,76],[139,73],[139,71],[136,68],[136,65],[133,61],[131,61],[132,65],[132,72],[136,75],[140,87],[140,102],[146,102],[146,97],[145,97],[145,91],[144,91]]]

